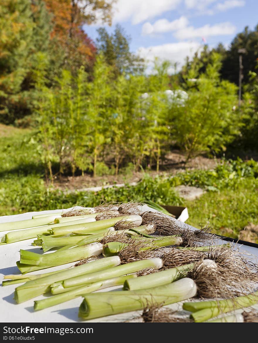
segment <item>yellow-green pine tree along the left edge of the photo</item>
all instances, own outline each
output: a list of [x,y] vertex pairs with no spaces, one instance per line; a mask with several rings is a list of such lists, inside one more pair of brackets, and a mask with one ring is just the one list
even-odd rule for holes
[[38,52],[48,50],[51,25],[42,0],[3,0],[0,7],[0,121],[31,113]]

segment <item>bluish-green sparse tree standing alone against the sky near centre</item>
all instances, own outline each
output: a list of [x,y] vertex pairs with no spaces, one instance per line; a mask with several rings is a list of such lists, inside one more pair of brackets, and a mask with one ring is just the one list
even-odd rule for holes
[[108,34],[104,27],[97,29],[97,48],[106,62],[112,66],[115,75],[135,74],[143,71],[143,59],[130,52],[130,37],[125,30],[116,25],[114,34]]

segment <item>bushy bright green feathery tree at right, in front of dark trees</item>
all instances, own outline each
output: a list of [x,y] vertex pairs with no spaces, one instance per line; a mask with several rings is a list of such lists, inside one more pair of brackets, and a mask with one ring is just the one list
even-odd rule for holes
[[[239,132],[241,118],[234,110],[237,87],[220,81],[220,68],[221,57],[215,52],[205,73],[199,75],[193,64],[190,75],[186,75],[188,100],[184,106],[175,103],[171,109],[172,137],[186,151],[186,162],[203,152],[225,150],[225,144]],[[188,80],[192,78],[197,78],[195,87]]]

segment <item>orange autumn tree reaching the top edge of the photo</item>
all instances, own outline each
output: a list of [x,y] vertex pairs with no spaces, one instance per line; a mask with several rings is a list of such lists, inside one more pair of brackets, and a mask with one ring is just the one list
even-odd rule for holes
[[76,73],[83,65],[91,69],[95,60],[96,47],[84,32],[84,24],[92,24],[97,20],[96,12],[103,22],[111,23],[112,4],[105,0],[45,0],[52,15],[52,39],[56,48],[64,52],[62,63],[66,69]]

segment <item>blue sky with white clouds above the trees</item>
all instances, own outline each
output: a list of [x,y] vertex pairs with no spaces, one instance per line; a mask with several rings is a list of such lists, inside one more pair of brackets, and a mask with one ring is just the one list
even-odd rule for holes
[[84,25],[95,40],[96,29],[113,32],[120,24],[131,37],[130,49],[151,63],[155,57],[184,64],[203,44],[228,47],[245,26],[258,24],[258,0],[118,0],[112,26]]

